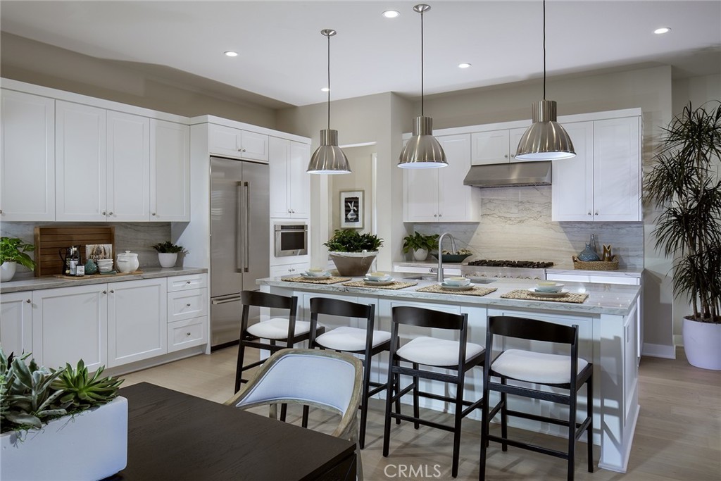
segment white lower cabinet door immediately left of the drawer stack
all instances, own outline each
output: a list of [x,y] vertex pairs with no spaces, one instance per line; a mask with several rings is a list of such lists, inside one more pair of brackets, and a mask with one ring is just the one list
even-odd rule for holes
[[107,366],[167,353],[165,278],[109,284]]

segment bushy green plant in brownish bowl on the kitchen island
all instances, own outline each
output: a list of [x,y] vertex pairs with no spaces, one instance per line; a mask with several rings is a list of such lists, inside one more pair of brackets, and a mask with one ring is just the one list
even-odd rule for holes
[[383,239],[354,229],[336,229],[323,245],[328,247],[328,254],[340,275],[366,275]]

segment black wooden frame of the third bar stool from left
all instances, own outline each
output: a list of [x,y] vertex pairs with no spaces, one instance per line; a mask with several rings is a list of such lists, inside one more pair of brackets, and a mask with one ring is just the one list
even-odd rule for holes
[[[409,325],[415,327],[428,327],[435,329],[447,329],[459,331],[459,356],[458,363],[450,366],[433,366],[443,367],[456,371],[456,374],[443,374],[435,371],[427,371],[420,369],[419,363],[412,363],[412,368],[400,365],[400,362],[409,362],[402,359],[397,354],[399,349],[399,325]],[[399,424],[401,420],[412,421],[413,427],[417,429],[420,424],[430,426],[431,428],[442,429],[443,431],[451,431],[454,433],[453,446],[453,464],[451,467],[451,475],[458,476],[459,465],[459,449],[461,446],[461,420],[473,412],[473,410],[481,407],[483,399],[477,401],[466,401],[463,399],[464,381],[466,371],[480,366],[485,360],[484,353],[481,351],[476,356],[466,360],[466,343],[468,341],[468,314],[451,314],[448,312],[434,311],[431,309],[423,309],[412,306],[397,306],[393,308],[392,314],[392,332],[391,332],[391,348],[388,366],[388,387],[386,391],[386,412],[383,436],[383,456],[389,454],[391,419],[394,418]],[[400,375],[412,376],[413,381],[403,389],[399,386]],[[433,381],[442,381],[456,385],[456,397],[443,396],[432,392],[420,391],[418,380],[431,379]],[[404,415],[397,408],[397,412],[392,412],[391,407],[394,402],[398,403],[405,394],[413,392],[413,415]],[[419,397],[428,397],[434,400],[440,400],[454,404],[454,425],[445,425],[435,423],[420,418],[420,409],[418,406]],[[398,404],[397,404],[398,405]],[[464,409],[464,406],[466,408]]]

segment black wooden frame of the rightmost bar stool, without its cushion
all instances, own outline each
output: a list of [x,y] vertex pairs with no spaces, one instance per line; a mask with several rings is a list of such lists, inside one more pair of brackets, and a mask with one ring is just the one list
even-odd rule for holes
[[[493,370],[493,362],[500,356],[492,356],[493,337],[516,337],[524,340],[538,340],[547,343],[567,344],[570,345],[570,382],[564,384],[548,384],[534,381],[534,384],[542,386],[559,387],[568,389],[568,394],[541,391],[540,389],[532,389],[530,387],[521,387],[508,384],[508,381],[524,381],[523,379],[513,379],[509,376],[503,376]],[[557,456],[568,461],[568,481],[573,480],[575,471],[575,445],[578,438],[586,432],[588,444],[588,472],[593,472],[593,364],[588,363],[584,369],[578,372],[578,325],[565,326],[554,324],[552,322],[540,321],[537,319],[526,319],[523,317],[513,316],[490,316],[488,317],[488,325],[486,331],[486,350],[485,350],[485,366],[483,369],[483,397],[490,400],[491,391],[500,392],[500,401],[494,407],[490,407],[486,402],[482,412],[482,428],[481,428],[481,456],[479,467],[479,480],[485,480],[486,454],[488,441],[495,441],[501,444],[503,451],[508,450],[508,445],[515,446],[529,451],[536,451],[542,454]],[[492,378],[499,378],[500,382],[493,381]],[[586,385],[586,418],[582,423],[576,422],[576,407],[578,399],[578,390]],[[547,416],[535,415],[529,412],[521,412],[508,409],[508,394],[530,397],[534,399],[558,402],[569,406],[569,416],[567,420],[550,418]],[[493,436],[489,433],[489,423],[495,418],[500,411],[501,414],[501,436]],[[562,425],[568,428],[568,448],[567,451],[557,451],[536,444],[523,443],[508,438],[508,416],[516,418],[524,418],[536,420],[545,423]]]

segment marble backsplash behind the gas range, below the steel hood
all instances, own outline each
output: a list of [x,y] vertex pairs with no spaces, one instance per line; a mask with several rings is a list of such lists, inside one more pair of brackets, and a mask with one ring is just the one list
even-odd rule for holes
[[[643,268],[642,222],[553,222],[551,187],[479,189],[480,221],[467,224],[414,224],[422,234],[450,232],[459,249],[474,259],[538,260],[572,268],[572,255],[596,235],[599,254],[611,244],[621,268]],[[443,242],[449,249],[450,242]]]

